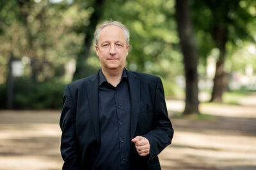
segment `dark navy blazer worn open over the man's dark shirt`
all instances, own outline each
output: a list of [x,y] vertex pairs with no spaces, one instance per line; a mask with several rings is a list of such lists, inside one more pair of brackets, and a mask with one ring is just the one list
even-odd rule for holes
[[[150,154],[140,157],[132,144],[131,169],[161,169],[157,155],[172,142],[173,128],[161,79],[127,71],[131,100],[131,138],[143,136]],[[67,85],[60,127],[63,169],[94,169],[100,150],[99,72]]]

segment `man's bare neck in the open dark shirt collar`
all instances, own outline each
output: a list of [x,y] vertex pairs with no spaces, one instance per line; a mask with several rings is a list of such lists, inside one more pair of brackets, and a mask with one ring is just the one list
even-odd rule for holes
[[113,87],[116,87],[118,85],[118,83],[120,83],[121,78],[122,78],[122,73],[124,71],[124,68],[122,69],[108,69],[108,71],[106,71],[103,67],[102,69],[102,73],[104,74],[106,80],[113,85]]

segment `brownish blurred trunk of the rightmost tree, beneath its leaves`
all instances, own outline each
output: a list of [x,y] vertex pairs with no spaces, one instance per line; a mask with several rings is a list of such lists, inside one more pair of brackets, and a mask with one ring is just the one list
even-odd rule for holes
[[227,28],[216,25],[213,32],[213,38],[216,46],[220,50],[220,57],[216,63],[216,73],[213,80],[211,102],[222,102],[222,94],[227,89],[225,82],[224,64],[225,64],[225,45],[227,43]]

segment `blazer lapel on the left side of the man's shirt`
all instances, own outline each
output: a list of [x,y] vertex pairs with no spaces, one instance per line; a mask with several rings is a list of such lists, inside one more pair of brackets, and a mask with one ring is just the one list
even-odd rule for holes
[[89,113],[92,118],[94,132],[98,143],[100,143],[100,129],[99,129],[99,73],[92,76],[90,83],[86,86]]

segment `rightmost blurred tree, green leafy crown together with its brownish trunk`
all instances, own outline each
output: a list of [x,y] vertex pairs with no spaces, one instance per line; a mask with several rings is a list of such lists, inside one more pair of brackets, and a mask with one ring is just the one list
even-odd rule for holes
[[255,11],[253,6],[256,4],[252,0],[234,0],[232,3],[228,0],[209,0],[192,1],[192,5],[193,21],[201,34],[200,49],[204,49],[201,52],[204,51],[203,55],[206,56],[214,47],[220,51],[216,62],[211,101],[221,102],[222,94],[228,86],[228,76],[224,69],[227,43],[237,47],[239,42],[245,39],[254,41],[246,25],[253,20],[250,10]]

